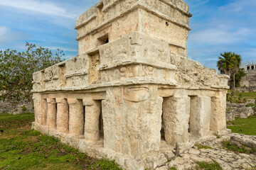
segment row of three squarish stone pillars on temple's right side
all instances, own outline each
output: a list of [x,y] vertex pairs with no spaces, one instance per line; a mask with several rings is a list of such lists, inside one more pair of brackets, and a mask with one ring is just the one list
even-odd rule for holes
[[163,103],[164,137],[171,145],[188,141],[188,134],[203,137],[225,130],[225,98],[172,96]]

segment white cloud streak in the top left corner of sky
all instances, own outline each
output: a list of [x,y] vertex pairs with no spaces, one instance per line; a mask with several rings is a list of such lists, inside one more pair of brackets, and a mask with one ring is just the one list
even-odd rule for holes
[[0,0],[0,6],[9,6],[20,8],[23,10],[33,11],[36,13],[45,13],[54,16],[63,16],[65,18],[75,18],[74,14],[67,13],[64,8],[60,8],[55,4],[38,0]]

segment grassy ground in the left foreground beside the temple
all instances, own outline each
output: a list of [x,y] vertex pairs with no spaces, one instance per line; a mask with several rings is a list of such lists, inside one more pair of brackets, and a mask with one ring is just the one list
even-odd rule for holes
[[107,159],[92,159],[54,137],[31,130],[34,115],[0,115],[0,169],[120,169]]

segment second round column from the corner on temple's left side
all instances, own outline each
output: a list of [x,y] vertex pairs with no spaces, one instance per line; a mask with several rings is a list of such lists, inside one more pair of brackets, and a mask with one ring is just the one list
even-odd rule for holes
[[82,100],[68,98],[69,104],[69,133],[73,136],[81,136],[84,132],[85,114]]

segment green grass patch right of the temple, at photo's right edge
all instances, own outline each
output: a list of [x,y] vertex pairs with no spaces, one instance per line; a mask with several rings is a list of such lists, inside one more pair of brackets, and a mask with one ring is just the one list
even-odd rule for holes
[[236,118],[235,121],[229,121],[232,125],[227,128],[234,133],[242,133],[245,135],[256,135],[256,116],[251,115],[246,119]]

